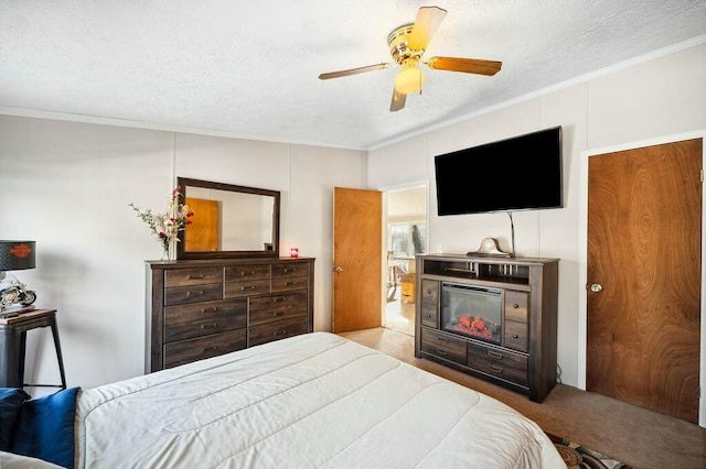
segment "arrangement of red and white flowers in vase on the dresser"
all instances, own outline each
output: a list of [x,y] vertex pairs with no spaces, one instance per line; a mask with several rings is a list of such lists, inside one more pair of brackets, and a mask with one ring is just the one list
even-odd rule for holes
[[169,247],[172,241],[179,241],[179,231],[183,231],[188,225],[191,225],[191,217],[194,216],[194,211],[186,204],[179,203],[180,190],[180,186],[172,190],[167,210],[161,214],[156,214],[151,209],[141,210],[135,204],[128,204],[157,236],[157,240],[162,246],[162,259],[169,259]]

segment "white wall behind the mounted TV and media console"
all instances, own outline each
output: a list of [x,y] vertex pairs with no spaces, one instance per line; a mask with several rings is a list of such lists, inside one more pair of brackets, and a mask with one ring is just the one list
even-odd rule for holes
[[[586,204],[580,190],[582,152],[662,135],[706,129],[706,45],[644,57],[504,108],[429,131],[368,153],[373,188],[429,182],[431,252],[477,250],[485,237],[510,250],[506,214],[436,215],[434,156],[468,146],[563,127],[565,208],[517,211],[517,255],[559,258],[558,362],[561,381],[579,383],[579,226]],[[527,155],[531,157],[531,155]],[[482,177],[482,175],[478,175]],[[469,181],[473,174],[469,174]],[[702,319],[704,320],[704,319]],[[704,360],[702,360],[704,363]],[[706,367],[702,364],[702,373]]]

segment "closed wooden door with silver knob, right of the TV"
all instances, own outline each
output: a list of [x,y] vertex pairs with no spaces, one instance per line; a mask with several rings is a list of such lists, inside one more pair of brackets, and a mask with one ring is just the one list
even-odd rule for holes
[[587,390],[698,421],[702,139],[589,157]]

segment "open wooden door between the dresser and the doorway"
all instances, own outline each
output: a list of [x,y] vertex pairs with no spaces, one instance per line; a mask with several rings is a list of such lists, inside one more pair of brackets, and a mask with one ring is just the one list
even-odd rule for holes
[[333,189],[333,331],[382,325],[383,194]]

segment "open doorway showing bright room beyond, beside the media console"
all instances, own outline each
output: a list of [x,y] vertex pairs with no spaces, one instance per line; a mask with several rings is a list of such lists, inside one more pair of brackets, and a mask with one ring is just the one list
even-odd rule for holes
[[427,186],[385,193],[384,325],[415,335],[415,255],[427,252]]

